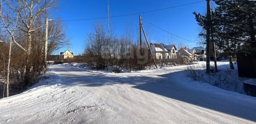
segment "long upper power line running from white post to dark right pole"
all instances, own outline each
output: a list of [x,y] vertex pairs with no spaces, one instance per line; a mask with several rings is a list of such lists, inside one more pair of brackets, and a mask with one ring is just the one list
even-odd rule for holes
[[[204,0],[205,1],[205,0]],[[195,2],[195,3],[200,3],[203,1]],[[180,7],[180,6],[186,6],[190,4],[195,4],[195,3],[189,3],[189,4],[184,4],[184,5],[179,5],[179,6],[173,6],[173,7],[168,7],[168,8],[163,8],[163,9],[156,9],[152,11],[146,11],[146,12],[141,12],[141,13],[133,13],[133,14],[126,14],[126,15],[119,15],[119,16],[111,16],[111,17],[99,17],[99,18],[89,18],[89,19],[76,19],[76,20],[56,20],[54,22],[65,22],[65,21],[80,21],[80,20],[92,20],[92,19],[102,19],[102,18],[113,18],[113,17],[120,17],[120,16],[128,16],[128,15],[135,15],[135,14],[142,14],[142,13],[148,13],[148,12],[154,12],[154,11],[159,11],[159,10],[164,10],[164,9],[169,9],[169,8],[175,8],[175,7]]]

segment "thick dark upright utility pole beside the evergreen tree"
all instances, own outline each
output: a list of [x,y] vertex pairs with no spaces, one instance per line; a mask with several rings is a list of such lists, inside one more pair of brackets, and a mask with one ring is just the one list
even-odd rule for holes
[[210,74],[210,0],[207,0],[207,24],[206,24],[206,74]]

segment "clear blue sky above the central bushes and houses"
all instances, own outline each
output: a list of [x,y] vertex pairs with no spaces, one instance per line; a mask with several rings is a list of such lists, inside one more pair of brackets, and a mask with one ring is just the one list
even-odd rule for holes
[[[189,4],[199,1],[201,0],[110,0],[110,14],[111,16],[132,14],[138,12],[151,11],[155,9],[168,8],[183,4]],[[55,11],[54,14],[60,16],[63,20],[107,17],[107,3],[108,0],[61,0],[61,10]],[[197,13],[205,13],[206,1],[155,12],[143,13],[141,14],[141,16],[145,20],[150,21],[152,24],[161,27],[167,30],[168,32],[171,32],[175,35],[178,35],[191,41],[197,41],[200,27],[197,25],[195,16],[192,14],[192,12],[194,11]],[[131,15],[130,17],[134,29],[134,35],[136,37],[136,29],[139,26],[139,14]],[[111,18],[111,24],[115,29],[114,35],[121,36],[122,34],[124,34],[128,18],[129,16]],[[70,41],[72,46],[70,48],[62,48],[55,54],[58,54],[61,51],[63,52],[66,49],[71,50],[74,53],[74,55],[77,55],[81,51],[83,51],[84,39],[87,37],[87,34],[91,31],[92,24],[97,21],[103,23],[107,29],[107,18],[64,22],[66,23],[68,28],[68,30],[66,30],[66,33],[72,38]],[[149,24],[146,22],[142,23],[145,30],[148,30]],[[171,36],[170,34],[154,26],[151,27],[151,30],[153,32],[151,42],[163,42],[168,44],[168,37],[175,38],[174,36]],[[189,47],[198,46],[195,43],[191,43],[177,37],[176,40],[177,42],[187,44]]]

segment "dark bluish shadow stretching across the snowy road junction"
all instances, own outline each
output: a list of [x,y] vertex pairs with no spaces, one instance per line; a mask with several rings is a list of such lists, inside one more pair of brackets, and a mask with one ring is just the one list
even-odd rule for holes
[[[65,82],[61,83],[63,85],[97,87],[114,84],[132,84],[136,85],[133,86],[133,88],[149,91],[154,94],[184,101],[189,104],[227,113],[229,115],[237,116],[240,118],[256,121],[256,108],[242,105],[241,103],[243,101],[241,101],[241,103],[238,104],[236,102],[233,102],[232,100],[227,100],[227,96],[225,95],[218,95],[211,92],[205,92],[202,90],[184,87],[179,84],[180,82],[182,82],[182,80],[180,80],[179,82],[174,82],[173,80],[175,78],[179,78],[177,76],[180,76],[180,73],[183,73],[183,71],[173,73],[168,72],[168,74],[158,76],[154,75],[154,77],[138,75],[132,76],[134,74],[130,76],[125,75],[126,77],[124,77],[120,75],[107,75],[87,72],[85,73],[85,71],[81,69],[66,67],[56,67],[55,69],[55,72],[59,73],[60,77],[65,80]],[[61,72],[67,71],[71,71],[71,74],[61,74]],[[241,109],[241,107],[243,109]]]

